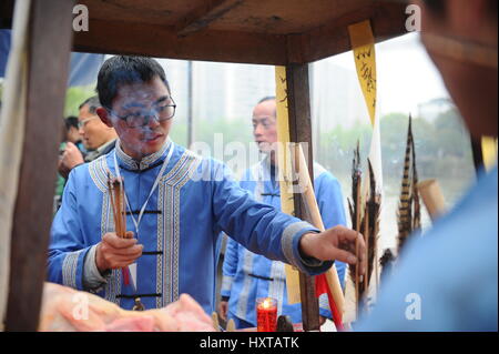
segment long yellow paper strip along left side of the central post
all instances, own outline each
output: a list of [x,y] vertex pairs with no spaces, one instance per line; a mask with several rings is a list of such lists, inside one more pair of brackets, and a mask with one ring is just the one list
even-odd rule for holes
[[[292,154],[289,149],[289,117],[287,110],[287,81],[286,68],[275,67],[275,88],[277,103],[277,165],[281,189],[281,210],[289,215],[295,215],[295,202],[293,196]],[[292,265],[285,265],[287,302],[296,304],[302,302],[299,296],[299,273]]]

